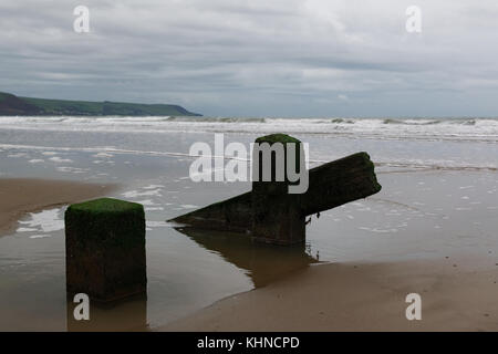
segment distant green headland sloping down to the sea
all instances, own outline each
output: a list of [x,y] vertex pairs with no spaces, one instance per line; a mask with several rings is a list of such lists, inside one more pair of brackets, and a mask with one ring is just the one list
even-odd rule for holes
[[87,102],[20,97],[0,92],[0,116],[201,116],[173,104]]

